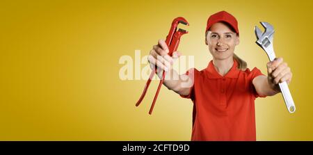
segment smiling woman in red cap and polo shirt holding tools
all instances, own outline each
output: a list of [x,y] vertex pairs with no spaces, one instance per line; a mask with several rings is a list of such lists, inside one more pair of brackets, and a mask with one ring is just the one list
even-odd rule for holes
[[[267,63],[267,76],[256,67],[248,69],[246,62],[234,54],[239,44],[239,29],[230,13],[221,11],[211,15],[205,35],[213,60],[204,70],[178,75],[171,65],[180,54],[176,51],[172,57],[168,56],[163,40],[150,51],[150,67],[157,65],[161,71],[168,72],[166,76],[180,77],[179,80],[166,77],[163,84],[192,99],[191,140],[256,140],[255,98],[278,94],[278,83],[290,83],[291,70],[282,58]],[[161,77],[161,72],[158,76]],[[193,84],[184,87],[182,83],[190,80]]]

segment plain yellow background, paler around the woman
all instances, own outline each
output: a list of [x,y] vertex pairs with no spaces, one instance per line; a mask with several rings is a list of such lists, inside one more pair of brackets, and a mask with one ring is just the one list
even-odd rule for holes
[[[192,102],[158,81],[135,107],[145,80],[121,81],[120,56],[146,55],[172,19],[191,26],[179,51],[202,70],[209,15],[227,10],[239,21],[235,53],[266,74],[255,44],[259,21],[275,27],[274,49],[291,67],[296,113],[281,95],[258,98],[257,140],[313,140],[312,1],[1,1],[0,140],[190,140]],[[143,67],[143,66],[142,66]]]

